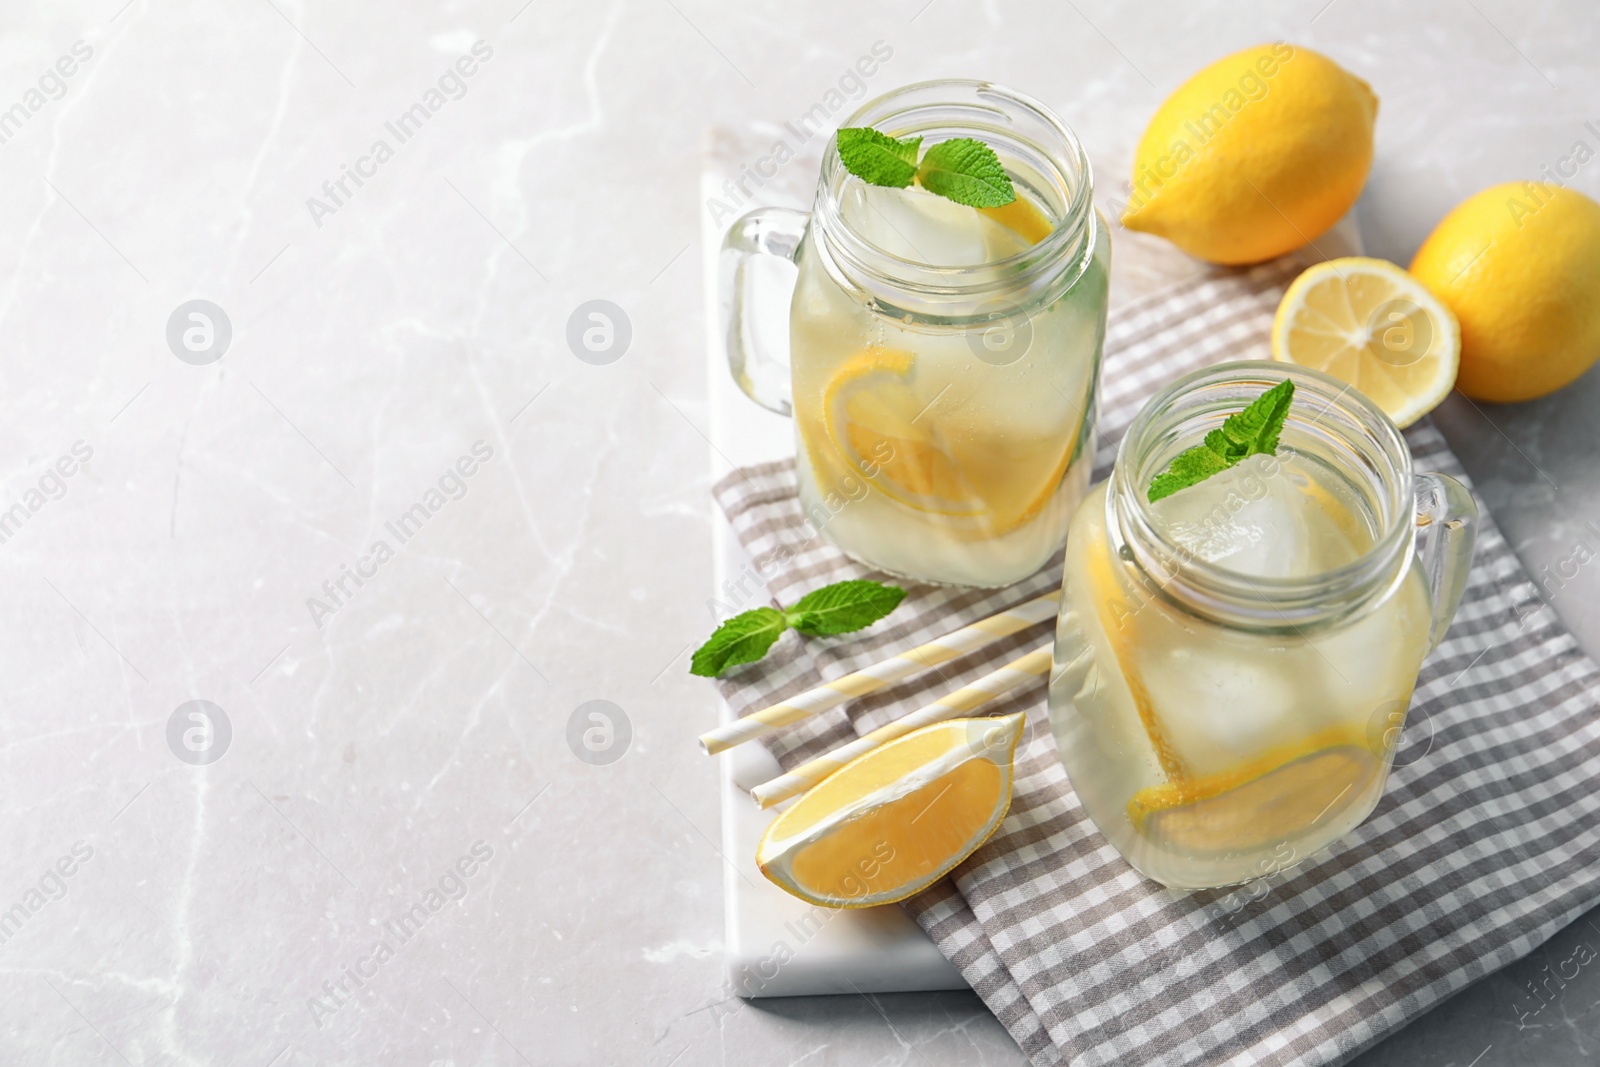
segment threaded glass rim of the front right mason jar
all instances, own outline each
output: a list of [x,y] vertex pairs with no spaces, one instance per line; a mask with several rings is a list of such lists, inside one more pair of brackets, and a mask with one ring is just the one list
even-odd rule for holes
[[[1294,381],[1294,405],[1286,429],[1318,427],[1338,437],[1368,469],[1381,488],[1381,526],[1373,544],[1355,560],[1338,568],[1296,576],[1264,577],[1200,558],[1174,541],[1155,522],[1142,486],[1152,451],[1170,446],[1186,418],[1216,418],[1216,400],[1205,410],[1197,403],[1208,390],[1234,395],[1237,387],[1262,392],[1283,379]],[[1189,398],[1189,405],[1184,405]],[[1307,418],[1307,411],[1315,413]],[[1202,616],[1251,629],[1290,629],[1342,617],[1387,592],[1403,579],[1398,566],[1414,544],[1414,474],[1411,451],[1394,421],[1365,394],[1331,374],[1294,363],[1238,360],[1200,368],[1157,392],[1128,426],[1117,448],[1112,486],[1107,494],[1107,522],[1115,523],[1134,561],[1157,579],[1163,593],[1179,606]]]

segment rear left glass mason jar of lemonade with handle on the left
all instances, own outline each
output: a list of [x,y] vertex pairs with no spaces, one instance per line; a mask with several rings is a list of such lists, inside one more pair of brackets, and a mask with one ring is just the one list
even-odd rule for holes
[[[984,82],[925,82],[845,126],[974,138],[1018,198],[970,208],[851,176],[837,142],[813,211],[763,208],[722,254],[728,366],[794,418],[800,504],[890,574],[1006,585],[1061,547],[1088,488],[1110,240],[1088,157],[1048,109]],[[789,352],[750,323],[750,259],[798,277]]]

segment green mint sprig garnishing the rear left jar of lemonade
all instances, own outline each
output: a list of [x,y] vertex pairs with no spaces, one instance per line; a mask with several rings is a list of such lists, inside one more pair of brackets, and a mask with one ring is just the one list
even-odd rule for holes
[[896,141],[869,126],[838,131],[838,162],[869,186],[904,189],[915,181],[931,194],[968,208],[1003,208],[1016,200],[1000,157],[982,141],[952,138],[928,149],[917,163],[922,138]]

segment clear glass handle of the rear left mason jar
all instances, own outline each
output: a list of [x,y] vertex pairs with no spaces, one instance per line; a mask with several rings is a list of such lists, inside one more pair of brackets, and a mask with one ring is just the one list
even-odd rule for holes
[[757,208],[741,216],[722,242],[718,293],[722,326],[728,346],[728,370],[744,395],[768,411],[789,414],[789,360],[763,352],[750,330],[750,256],[778,256],[795,262],[811,216],[792,208]]

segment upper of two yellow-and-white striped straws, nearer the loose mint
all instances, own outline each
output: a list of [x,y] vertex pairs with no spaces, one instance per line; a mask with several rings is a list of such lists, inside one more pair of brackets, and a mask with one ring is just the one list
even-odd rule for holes
[[1034,600],[1002,611],[1000,614],[979,619],[971,625],[963,625],[954,633],[938,637],[926,645],[910,649],[909,653],[901,653],[893,659],[885,659],[880,664],[848,673],[843,678],[824,681],[818,688],[808,689],[800,696],[784,701],[782,704],[773,704],[771,707],[765,707],[752,715],[736,718],[731,723],[701,734],[701,749],[704,749],[707,755],[726,752],[728,749],[744,744],[746,741],[763,737],[779,726],[787,726],[789,723],[797,723],[802,718],[810,718],[811,715],[819,715],[821,712],[838,707],[851,697],[875,693],[886,685],[917,673],[918,670],[938,667],[942,662],[949,662],[957,656],[965,656],[966,653],[982,648],[990,641],[997,641],[1002,637],[1010,637],[1018,630],[1024,630],[1035,622],[1053,619],[1059,601],[1061,590],[1054,589],[1042,597],[1035,597]]

